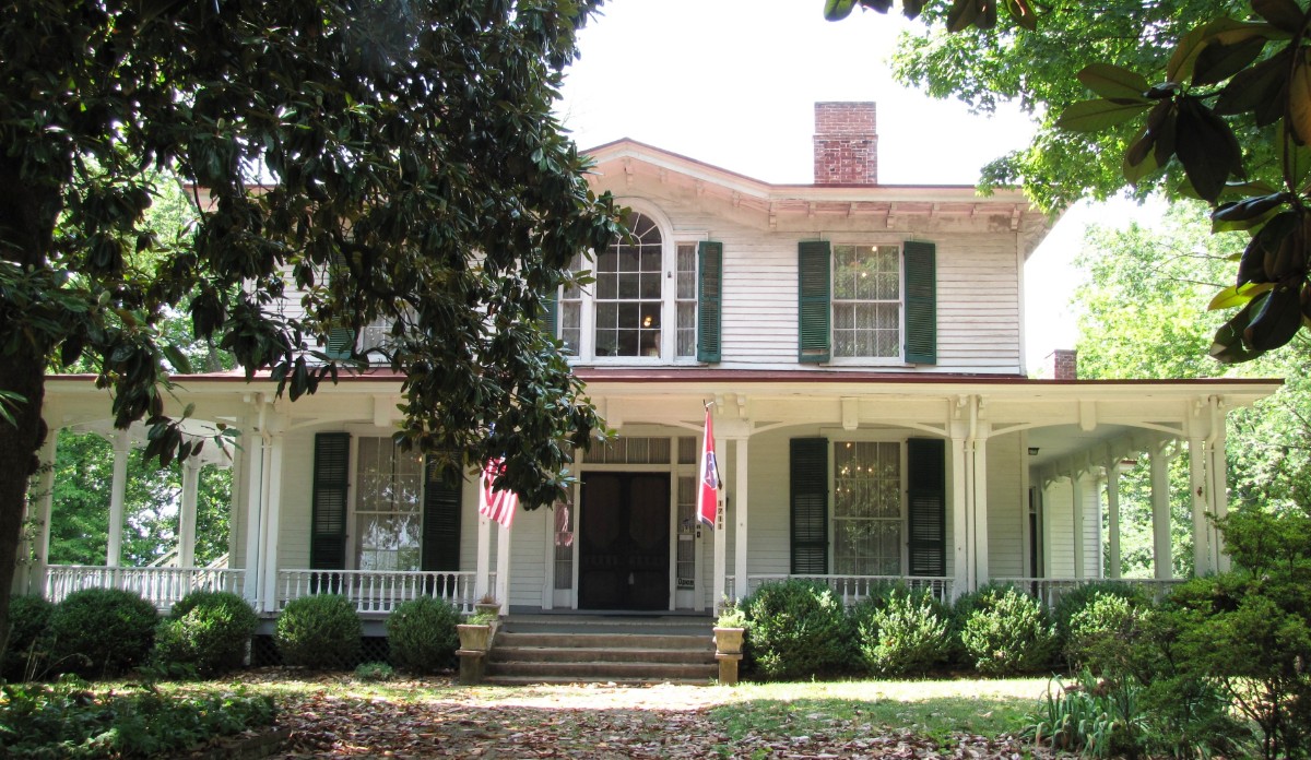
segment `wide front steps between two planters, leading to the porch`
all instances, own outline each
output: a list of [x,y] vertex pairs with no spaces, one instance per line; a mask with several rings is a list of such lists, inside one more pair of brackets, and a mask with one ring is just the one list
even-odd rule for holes
[[701,617],[510,616],[486,662],[492,684],[707,684],[717,675]]

